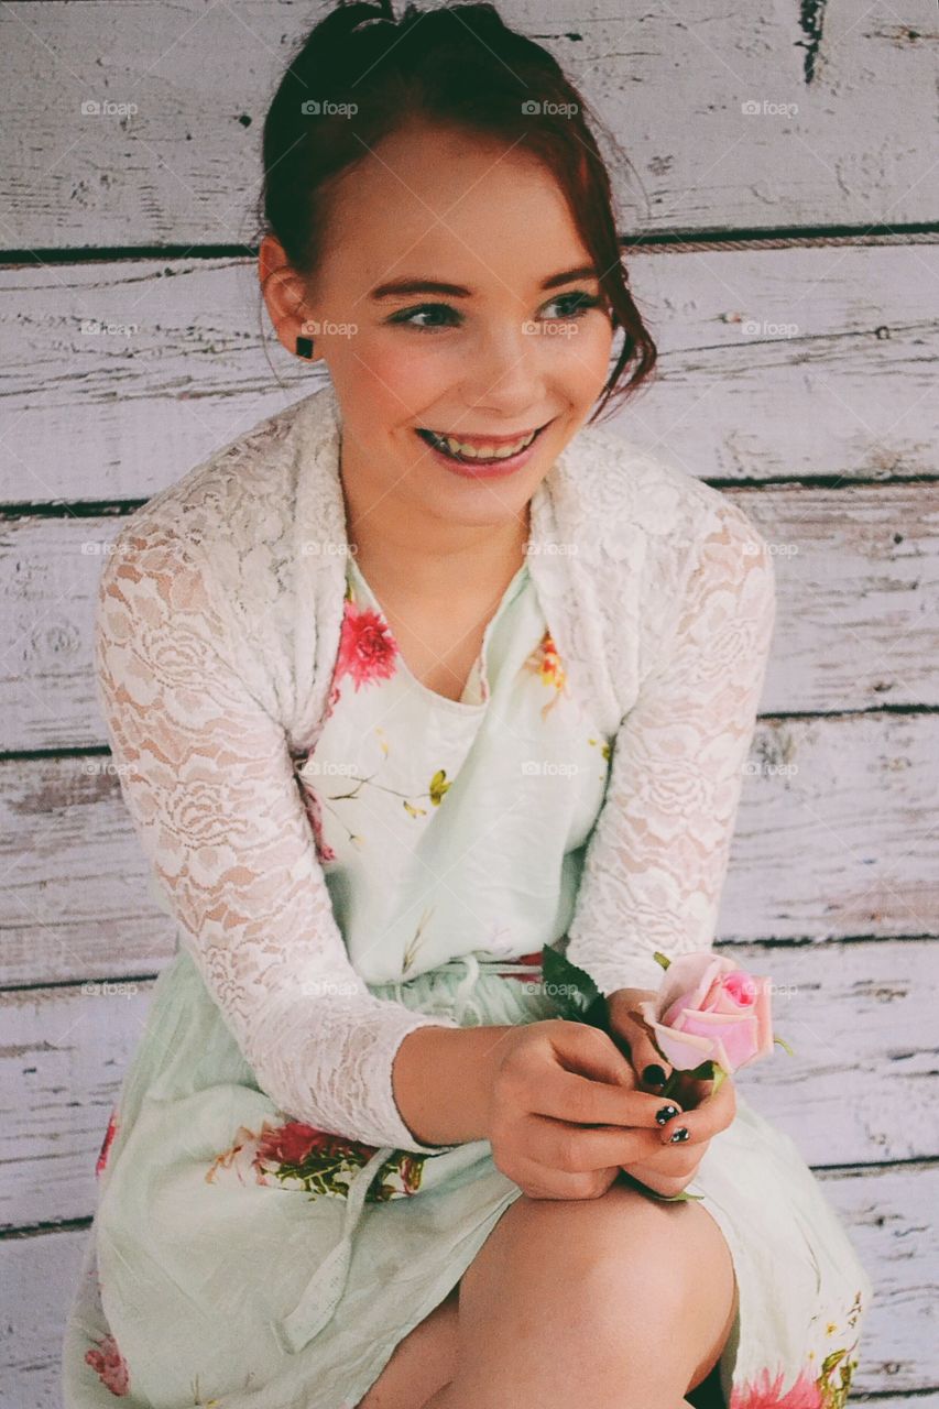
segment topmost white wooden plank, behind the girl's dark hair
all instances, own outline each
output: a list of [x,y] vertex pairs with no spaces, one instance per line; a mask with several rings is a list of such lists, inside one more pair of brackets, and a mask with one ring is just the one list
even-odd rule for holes
[[[264,116],[323,13],[300,0],[4,6],[6,247],[250,242]],[[601,144],[633,230],[935,218],[926,0],[902,14],[888,0],[863,14],[853,0],[771,6],[759,24],[746,0],[627,14],[506,0],[501,13],[615,134],[619,151]]]

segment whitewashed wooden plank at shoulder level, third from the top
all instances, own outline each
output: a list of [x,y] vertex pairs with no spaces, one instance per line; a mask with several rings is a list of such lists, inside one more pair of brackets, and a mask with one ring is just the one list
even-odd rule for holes
[[[939,483],[726,489],[767,538],[777,624],[764,714],[939,706]],[[7,750],[106,744],[94,593],[121,520],[0,523]]]

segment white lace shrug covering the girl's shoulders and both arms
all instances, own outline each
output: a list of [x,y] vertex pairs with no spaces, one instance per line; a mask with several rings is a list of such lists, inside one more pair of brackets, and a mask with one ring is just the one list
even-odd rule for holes
[[[374,998],[333,916],[295,768],[326,712],[344,596],[331,386],[131,514],[97,597],[99,704],[179,940],[278,1107],[412,1151]],[[582,427],[532,499],[529,571],[615,733],[568,958],[605,993],[712,944],[774,623],[768,547],[730,500]]]

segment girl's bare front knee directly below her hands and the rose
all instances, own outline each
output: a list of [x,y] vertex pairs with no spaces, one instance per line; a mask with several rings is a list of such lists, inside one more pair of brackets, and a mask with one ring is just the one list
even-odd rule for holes
[[698,1205],[522,1195],[462,1277],[455,1374],[423,1409],[692,1409],[735,1291]]

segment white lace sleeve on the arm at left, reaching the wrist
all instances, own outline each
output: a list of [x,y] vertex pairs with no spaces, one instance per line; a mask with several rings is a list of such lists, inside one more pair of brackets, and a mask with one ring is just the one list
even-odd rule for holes
[[97,699],[124,802],[258,1085],[320,1130],[453,1148],[410,1133],[392,1064],[416,1027],[458,1024],[374,998],[352,968],[285,730],[257,681],[252,693],[251,659],[237,664],[196,554],[124,528],[96,606]]

